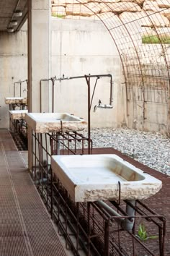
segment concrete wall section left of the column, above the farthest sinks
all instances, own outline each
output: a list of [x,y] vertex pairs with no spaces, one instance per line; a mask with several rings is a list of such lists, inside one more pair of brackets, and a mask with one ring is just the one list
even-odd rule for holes
[[[14,34],[0,33],[0,128],[9,127],[9,105],[5,105],[4,98],[14,95],[14,82],[27,79],[26,28]],[[23,90],[25,87],[26,83]],[[19,90],[16,93],[19,96]]]

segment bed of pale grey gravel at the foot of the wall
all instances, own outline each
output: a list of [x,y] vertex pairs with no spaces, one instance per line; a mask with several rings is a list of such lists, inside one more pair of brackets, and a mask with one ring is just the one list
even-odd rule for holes
[[136,161],[170,175],[170,138],[135,129],[91,129],[93,148],[115,148]]

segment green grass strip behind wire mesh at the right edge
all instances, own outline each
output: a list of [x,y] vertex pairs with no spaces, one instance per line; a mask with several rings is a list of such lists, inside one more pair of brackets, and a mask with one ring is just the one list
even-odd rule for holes
[[142,37],[142,43],[170,43],[169,35],[146,35]]

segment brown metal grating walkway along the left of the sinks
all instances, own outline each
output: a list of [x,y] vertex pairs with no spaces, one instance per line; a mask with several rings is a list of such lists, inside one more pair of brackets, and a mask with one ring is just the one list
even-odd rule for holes
[[0,129],[0,255],[66,255],[6,129]]

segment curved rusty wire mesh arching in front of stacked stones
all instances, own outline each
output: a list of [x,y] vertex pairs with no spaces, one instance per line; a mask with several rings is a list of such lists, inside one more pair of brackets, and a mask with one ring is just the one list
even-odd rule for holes
[[170,0],[54,0],[52,15],[101,20],[120,55],[127,101],[167,104]]

